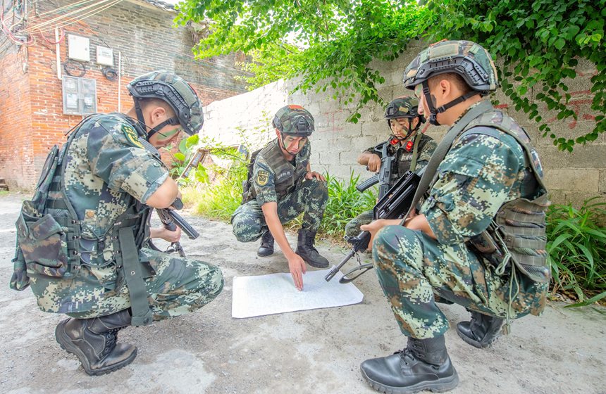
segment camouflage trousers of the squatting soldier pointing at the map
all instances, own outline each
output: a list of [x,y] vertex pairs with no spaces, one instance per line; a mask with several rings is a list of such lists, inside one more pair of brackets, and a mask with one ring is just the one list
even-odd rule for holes
[[[328,201],[326,182],[316,178],[299,179],[295,190],[278,201],[278,217],[285,224],[303,212],[301,229],[318,231]],[[231,217],[233,234],[240,242],[259,239],[267,231],[265,215],[256,200],[240,205]]]

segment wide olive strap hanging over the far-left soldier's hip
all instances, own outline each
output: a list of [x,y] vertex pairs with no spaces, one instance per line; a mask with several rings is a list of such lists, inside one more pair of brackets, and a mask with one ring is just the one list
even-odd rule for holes
[[139,252],[135,246],[135,236],[130,227],[123,227],[118,231],[120,241],[120,255],[122,267],[126,278],[126,286],[130,294],[130,308],[132,310],[132,326],[152,324],[152,310],[147,303],[147,288],[141,273]]

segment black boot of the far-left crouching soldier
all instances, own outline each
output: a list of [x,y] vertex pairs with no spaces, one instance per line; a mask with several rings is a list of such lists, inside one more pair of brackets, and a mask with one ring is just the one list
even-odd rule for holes
[[116,344],[116,333],[128,325],[128,310],[92,319],[66,319],[55,329],[55,338],[61,348],[80,359],[87,374],[109,374],[137,357],[135,346]]

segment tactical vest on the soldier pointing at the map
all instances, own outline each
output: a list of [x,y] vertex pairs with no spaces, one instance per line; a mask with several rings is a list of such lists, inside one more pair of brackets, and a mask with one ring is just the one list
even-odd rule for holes
[[[309,144],[309,141],[307,144]],[[274,185],[278,201],[295,188],[298,179],[307,174],[307,163],[309,163],[309,161],[301,158],[301,160],[297,161],[296,165],[293,166],[284,158],[280,145],[278,145],[278,139],[274,139],[267,144],[265,148],[261,149],[259,154],[256,155],[256,158],[259,156],[265,159],[275,174]],[[252,165],[254,165],[254,163],[252,163]],[[254,182],[254,179],[249,179],[249,184],[252,184],[252,182]],[[249,187],[247,196],[243,198],[242,201],[243,203],[247,203],[248,201],[254,200],[254,198],[256,198],[256,191],[254,187]]]

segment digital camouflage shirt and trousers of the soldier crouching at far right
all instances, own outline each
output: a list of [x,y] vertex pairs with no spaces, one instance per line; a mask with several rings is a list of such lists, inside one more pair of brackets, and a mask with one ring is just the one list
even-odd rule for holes
[[[500,110],[493,109],[489,116],[495,123],[506,118],[512,122],[511,129],[526,135]],[[502,204],[533,199],[543,191],[512,136],[496,128],[498,137],[476,134],[477,129],[455,139],[421,206],[437,239],[421,231],[387,226],[373,241],[383,292],[402,333],[412,338],[435,338],[448,329],[446,317],[435,305],[434,291],[470,310],[498,317],[538,314],[545,307],[548,283],[533,281],[516,269],[512,274],[511,267],[497,274],[493,264],[469,248],[469,239],[488,227]],[[542,177],[538,157],[534,159]],[[545,257],[545,250],[529,252]]]

